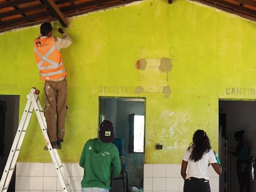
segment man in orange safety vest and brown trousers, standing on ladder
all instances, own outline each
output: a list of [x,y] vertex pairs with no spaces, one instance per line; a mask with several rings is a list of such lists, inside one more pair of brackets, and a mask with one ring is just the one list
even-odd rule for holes
[[[36,65],[40,79],[45,81],[45,119],[47,133],[54,149],[61,149],[65,135],[65,119],[67,113],[67,72],[62,62],[60,50],[72,43],[62,28],[58,31],[62,38],[52,36],[51,23],[40,26],[41,35],[34,40]],[[45,146],[48,150],[48,146]]]

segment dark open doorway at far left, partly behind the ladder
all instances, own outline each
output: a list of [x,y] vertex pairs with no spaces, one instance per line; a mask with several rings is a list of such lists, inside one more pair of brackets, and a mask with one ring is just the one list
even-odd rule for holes
[[[6,165],[15,133],[19,126],[19,103],[20,96],[0,95],[0,173]],[[15,191],[15,171],[8,188]]]

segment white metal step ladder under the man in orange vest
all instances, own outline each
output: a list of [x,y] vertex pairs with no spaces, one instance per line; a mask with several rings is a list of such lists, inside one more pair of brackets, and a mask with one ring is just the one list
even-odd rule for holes
[[20,120],[14,142],[12,143],[11,151],[7,158],[6,166],[4,167],[4,172],[2,173],[2,178],[0,182],[1,192],[5,192],[8,190],[12,174],[15,170],[17,159],[19,157],[20,148],[22,146],[25,134],[27,133],[28,123],[30,122],[33,114],[33,110],[35,110],[36,117],[38,119],[38,122],[40,123],[41,131],[45,136],[45,143],[48,146],[49,154],[51,155],[51,159],[55,165],[55,169],[59,178],[59,182],[61,183],[62,190],[65,192],[72,191],[69,185],[69,180],[67,180],[66,174],[64,172],[64,167],[62,166],[61,159],[59,158],[58,151],[57,149],[53,149],[53,147],[51,146],[51,142],[49,141],[45,115],[43,114],[40,98],[38,97],[39,93],[39,90],[36,90],[36,88],[32,88],[30,93],[27,94],[28,101],[25,106],[25,111],[23,112],[22,119]]

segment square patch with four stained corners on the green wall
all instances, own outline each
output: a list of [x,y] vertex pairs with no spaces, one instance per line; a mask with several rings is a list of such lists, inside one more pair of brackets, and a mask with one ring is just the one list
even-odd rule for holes
[[138,59],[135,63],[139,73],[140,85],[135,87],[135,93],[161,93],[164,98],[169,98],[171,88],[168,85],[168,73],[173,64],[171,59]]

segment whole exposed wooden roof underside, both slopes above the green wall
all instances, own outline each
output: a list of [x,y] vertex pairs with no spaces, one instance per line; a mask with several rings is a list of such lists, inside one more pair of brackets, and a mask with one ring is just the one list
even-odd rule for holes
[[[142,0],[0,0],[0,33]],[[159,1],[159,0],[158,0]],[[256,0],[190,0],[256,21]],[[166,0],[169,4],[175,0]]]

